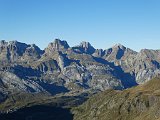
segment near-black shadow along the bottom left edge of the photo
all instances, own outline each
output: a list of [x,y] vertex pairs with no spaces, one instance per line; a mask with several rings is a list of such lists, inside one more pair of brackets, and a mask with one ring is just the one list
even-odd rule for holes
[[0,114],[1,120],[73,120],[69,109],[37,105],[19,109],[13,113]]

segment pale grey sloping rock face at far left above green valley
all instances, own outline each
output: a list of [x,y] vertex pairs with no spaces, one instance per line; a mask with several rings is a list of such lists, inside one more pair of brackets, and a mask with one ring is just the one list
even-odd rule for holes
[[35,81],[24,80],[11,72],[0,71],[1,89],[4,92],[40,92],[44,91]]

